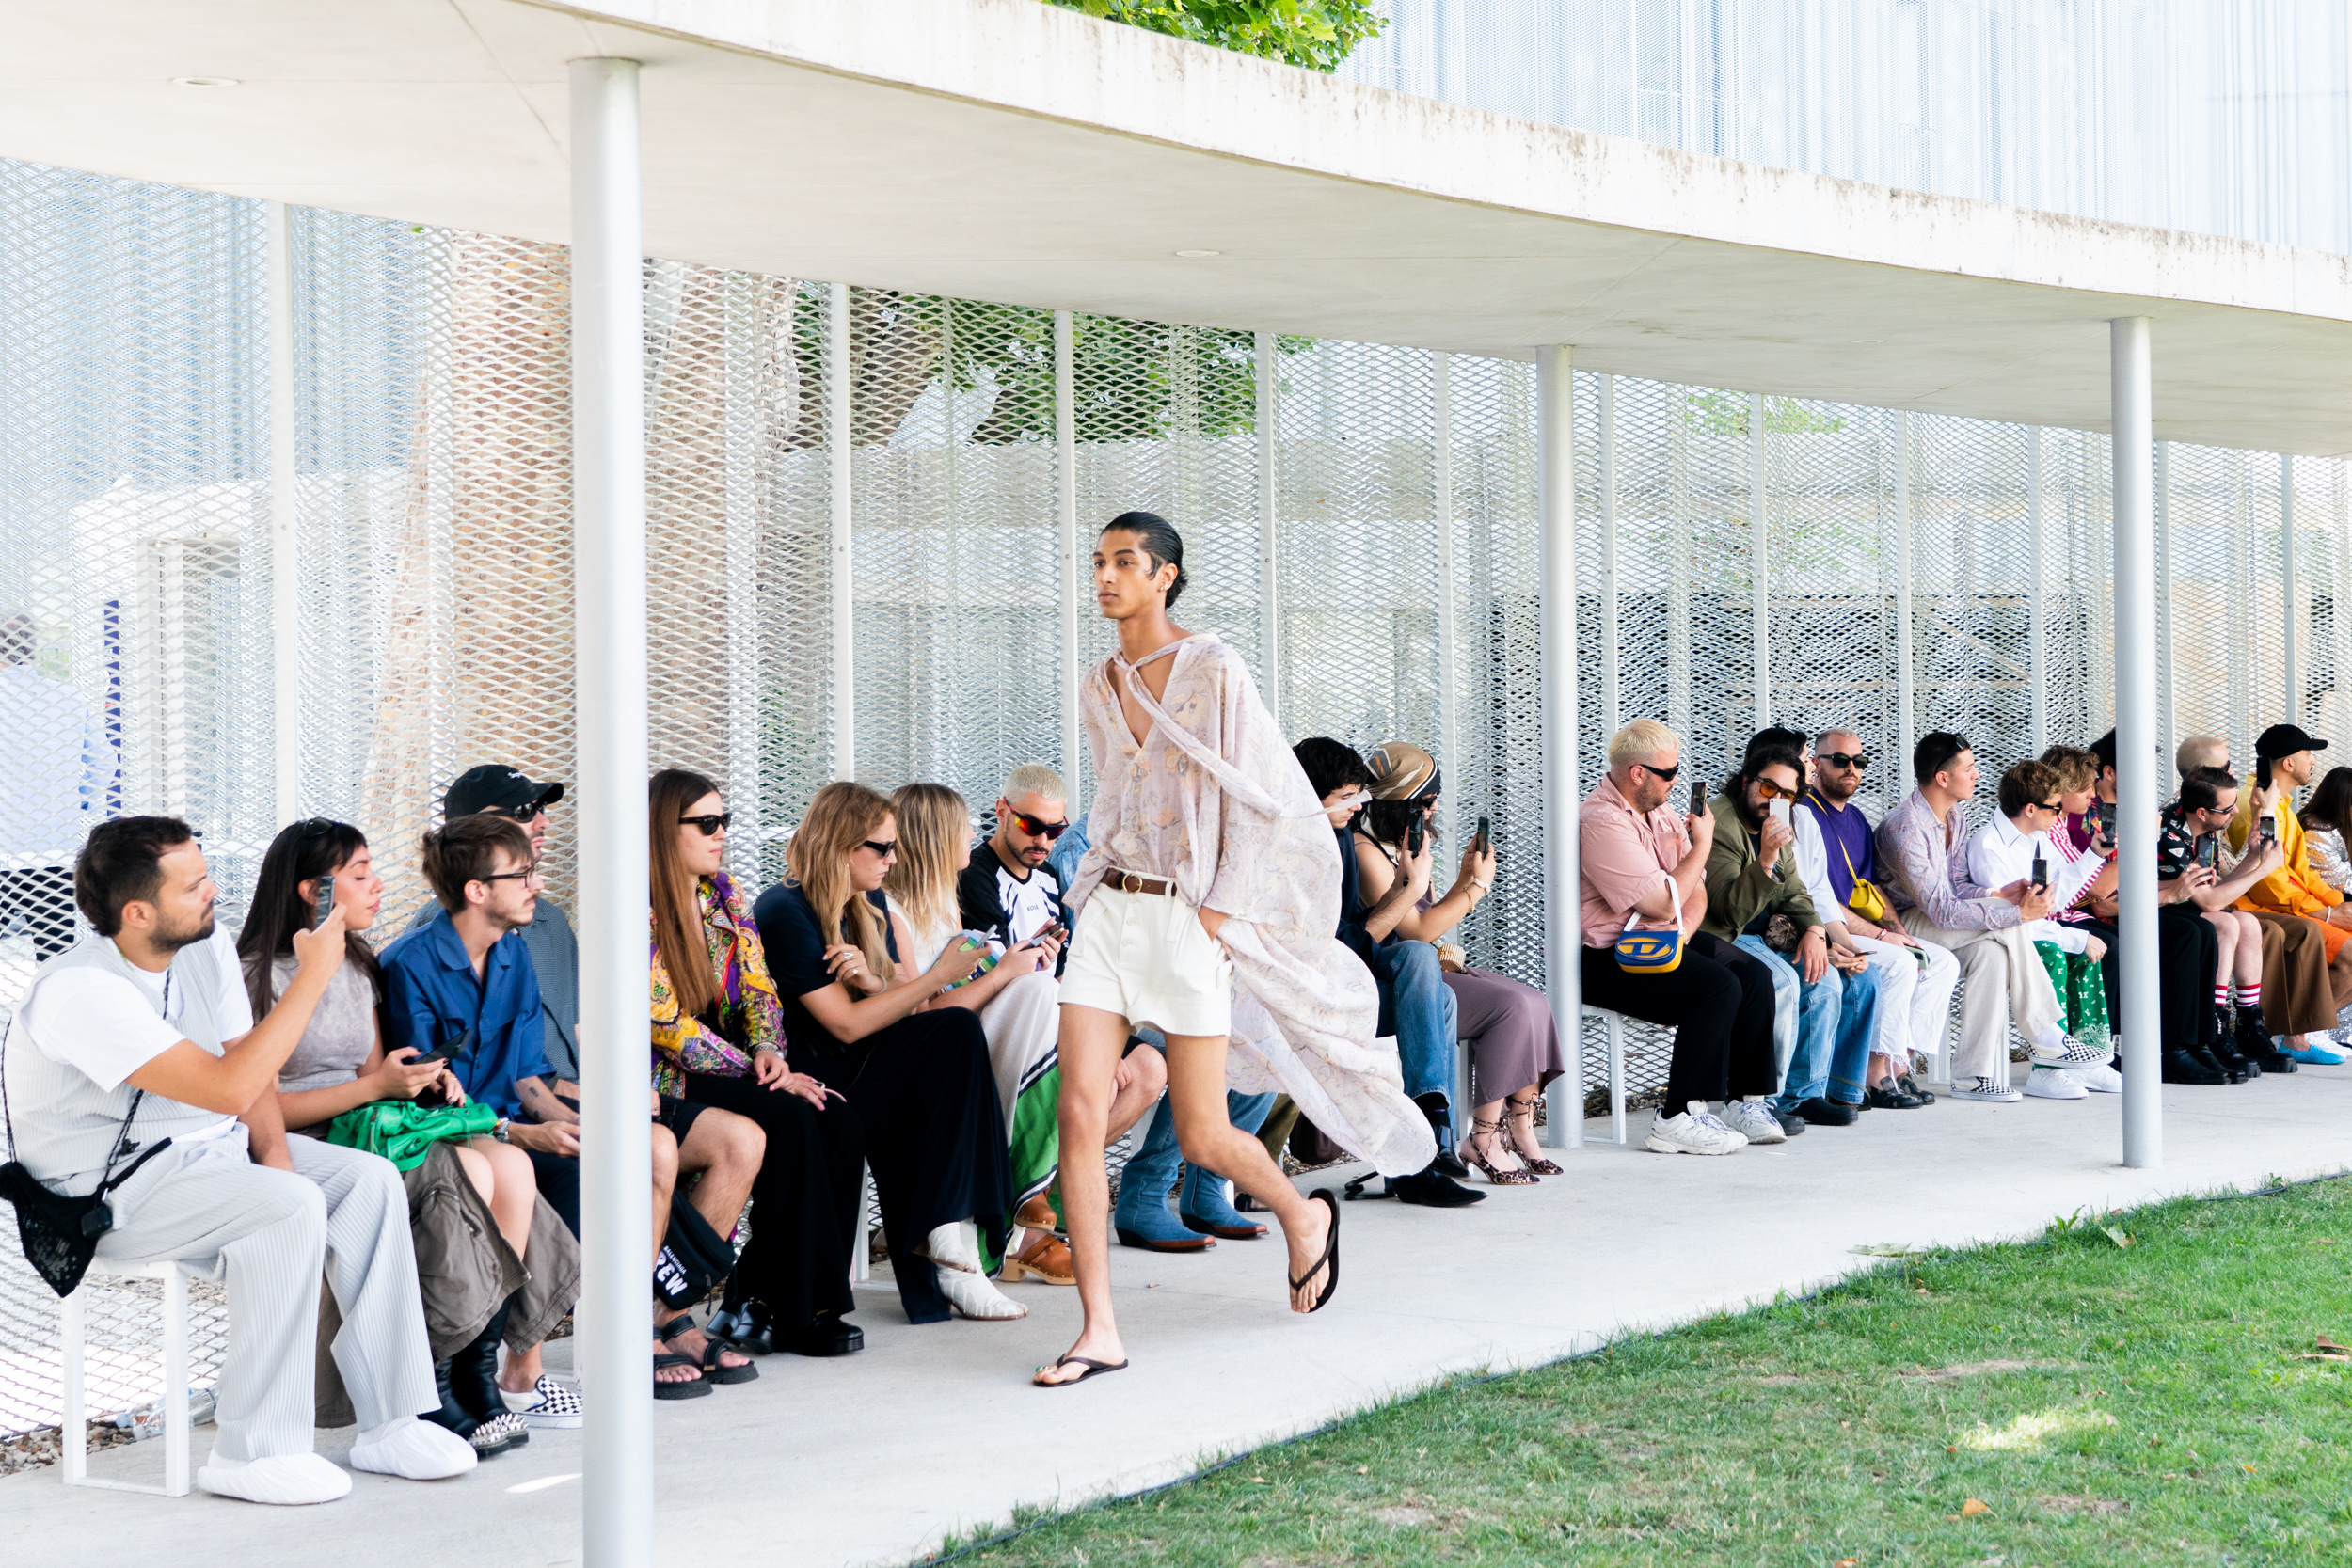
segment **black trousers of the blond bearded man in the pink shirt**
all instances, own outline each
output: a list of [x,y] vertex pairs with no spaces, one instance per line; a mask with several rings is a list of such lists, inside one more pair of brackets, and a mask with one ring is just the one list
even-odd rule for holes
[[1665,1114],[1691,1100],[1738,1100],[1780,1088],[1771,1048],[1771,971],[1731,943],[1684,938],[1682,964],[1630,976],[1609,947],[1585,947],[1585,1001],[1644,1023],[1675,1025]]

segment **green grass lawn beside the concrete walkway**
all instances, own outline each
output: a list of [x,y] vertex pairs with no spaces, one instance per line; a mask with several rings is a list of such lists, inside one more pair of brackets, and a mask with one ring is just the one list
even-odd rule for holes
[[2352,1180],[2053,1225],[1451,1382],[964,1561],[2352,1563],[2352,1352],[2310,1359],[2352,1345],[2347,1265]]

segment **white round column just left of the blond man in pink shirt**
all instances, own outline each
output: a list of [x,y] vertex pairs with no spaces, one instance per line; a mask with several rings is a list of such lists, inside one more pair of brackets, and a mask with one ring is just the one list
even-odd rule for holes
[[1569,346],[1536,350],[1536,527],[1543,536],[1543,978],[1569,1070],[1545,1093],[1543,1140],[1585,1145],[1583,933],[1576,809],[1576,378]]

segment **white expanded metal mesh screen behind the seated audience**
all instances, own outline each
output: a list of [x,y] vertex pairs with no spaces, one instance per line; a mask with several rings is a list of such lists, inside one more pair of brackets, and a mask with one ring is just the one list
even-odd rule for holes
[[[230,924],[280,820],[358,820],[397,929],[449,778],[574,778],[574,644],[597,628],[572,618],[564,252],[289,212],[294,447],[273,454],[268,209],[0,165],[0,1011],[75,931],[54,867],[106,816],[198,823]],[[983,827],[1021,762],[1089,799],[1061,693],[1112,639],[1084,559],[1141,508],[1185,536],[1178,618],[1242,649],[1287,733],[1439,755],[1449,844],[1484,816],[1501,849],[1470,957],[1543,985],[1531,364],[1080,315],[1065,378],[1049,310],[668,261],[644,282],[652,762],[722,785],[746,879],[781,875],[844,762],[955,785]],[[1931,726],[1987,773],[2107,726],[2103,437],[1628,376],[1578,374],[1573,397],[1581,778],[1639,715],[1719,778],[1759,684],[1771,722],[1863,731],[1872,811]],[[2345,465],[2161,463],[2166,736],[2244,757],[2291,691],[2343,733]],[[287,489],[294,625],[270,614]],[[1656,1088],[1663,1037],[1630,1048]],[[1595,1081],[1599,1053],[1588,1032]],[[101,1406],[158,1392],[139,1312],[101,1305]],[[0,1432],[56,1420],[54,1321],[0,1241]],[[219,1345],[202,1307],[200,1368]]]

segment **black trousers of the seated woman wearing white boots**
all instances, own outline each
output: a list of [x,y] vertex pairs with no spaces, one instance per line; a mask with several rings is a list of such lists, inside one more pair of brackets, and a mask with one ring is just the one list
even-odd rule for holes
[[981,1016],[964,1006],[915,1013],[828,1056],[802,1051],[797,1065],[840,1088],[858,1119],[877,1128],[866,1140],[866,1164],[875,1173],[898,1305],[910,1324],[946,1324],[948,1298],[915,1248],[953,1220],[978,1220],[1004,1237],[1014,1215],[1014,1168]]

